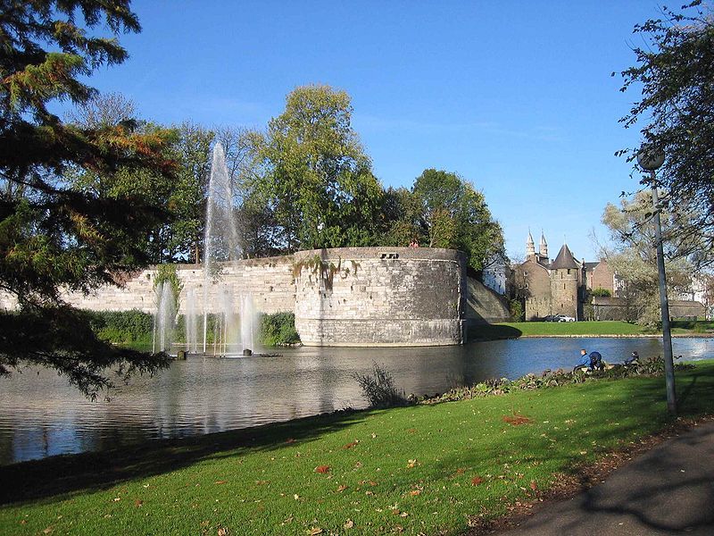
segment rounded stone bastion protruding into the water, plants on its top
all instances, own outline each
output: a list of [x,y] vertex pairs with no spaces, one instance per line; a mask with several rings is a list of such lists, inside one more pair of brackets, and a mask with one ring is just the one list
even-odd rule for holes
[[461,344],[466,259],[450,249],[295,254],[295,327],[309,346]]

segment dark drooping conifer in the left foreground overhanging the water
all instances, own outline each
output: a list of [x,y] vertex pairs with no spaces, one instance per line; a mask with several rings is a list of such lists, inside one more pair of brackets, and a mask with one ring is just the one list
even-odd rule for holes
[[154,371],[167,361],[97,340],[62,289],[89,291],[144,266],[146,240],[166,212],[131,188],[76,188],[64,172],[170,177],[174,166],[162,130],[65,124],[48,107],[87,103],[96,91],[80,78],[126,59],[115,38],[89,36],[78,20],[137,32],[127,0],[0,0],[0,13],[0,289],[19,304],[0,314],[0,374],[48,366],[91,396],[110,384],[109,367]]

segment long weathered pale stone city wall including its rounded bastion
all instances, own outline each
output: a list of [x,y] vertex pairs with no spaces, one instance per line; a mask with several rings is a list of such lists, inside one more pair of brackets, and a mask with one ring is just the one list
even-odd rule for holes
[[[183,283],[179,313],[194,289],[203,310],[203,271],[177,265]],[[147,269],[124,287],[93,294],[68,294],[73,306],[94,310],[140,309],[154,313],[156,270]],[[221,289],[209,287],[214,311],[218,292],[251,293],[263,313],[295,312],[295,327],[309,346],[452,345],[465,339],[466,322],[502,320],[507,308],[497,299],[472,296],[490,292],[480,285],[467,291],[466,259],[458,251],[410,247],[344,247],[295,255],[224,263]],[[469,294],[470,292],[470,294]],[[469,301],[467,303],[467,294]],[[493,293],[492,293],[493,294]],[[480,304],[480,305],[479,305]],[[486,305],[487,304],[487,305]],[[5,298],[4,307],[12,307]]]

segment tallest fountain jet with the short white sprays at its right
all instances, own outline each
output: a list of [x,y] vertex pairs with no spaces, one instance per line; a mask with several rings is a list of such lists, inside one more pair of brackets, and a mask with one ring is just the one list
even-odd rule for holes
[[[238,230],[233,206],[231,178],[226,167],[226,155],[220,143],[213,148],[211,177],[208,183],[206,229],[203,251],[203,353],[207,351],[210,297],[218,310],[214,323],[214,354],[232,356],[253,349],[257,331],[257,314],[253,298],[246,295],[238,307],[234,303],[235,289],[221,281],[220,264],[240,258]],[[240,314],[237,314],[237,312]]]

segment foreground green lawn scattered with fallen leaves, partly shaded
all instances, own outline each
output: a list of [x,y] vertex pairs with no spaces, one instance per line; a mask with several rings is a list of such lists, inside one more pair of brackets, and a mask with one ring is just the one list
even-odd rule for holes
[[[714,362],[677,392],[714,413]],[[665,423],[663,379],[630,378],[60,456],[0,467],[0,533],[456,534]]]

